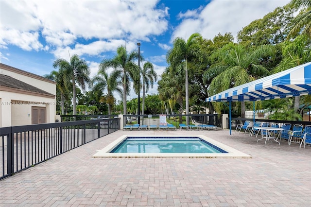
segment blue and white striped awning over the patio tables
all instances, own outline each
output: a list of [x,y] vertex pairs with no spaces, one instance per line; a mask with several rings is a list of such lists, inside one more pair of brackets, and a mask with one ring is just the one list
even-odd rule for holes
[[206,102],[251,102],[311,94],[311,62],[236,86]]

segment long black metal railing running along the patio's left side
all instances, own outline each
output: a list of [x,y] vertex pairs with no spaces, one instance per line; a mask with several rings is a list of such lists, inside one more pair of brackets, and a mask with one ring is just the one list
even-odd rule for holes
[[0,179],[120,129],[120,118],[0,128]]

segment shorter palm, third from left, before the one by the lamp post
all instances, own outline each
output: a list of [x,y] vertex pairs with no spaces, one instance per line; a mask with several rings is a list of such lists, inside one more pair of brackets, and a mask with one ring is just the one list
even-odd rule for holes
[[102,69],[98,71],[92,81],[95,84],[93,90],[103,92],[104,89],[107,89],[105,97],[102,96],[99,101],[108,104],[108,115],[111,115],[112,107],[116,100],[113,96],[113,92],[116,91],[119,94],[122,94],[122,90],[119,87],[121,83],[118,82],[117,79],[109,77],[106,71]]

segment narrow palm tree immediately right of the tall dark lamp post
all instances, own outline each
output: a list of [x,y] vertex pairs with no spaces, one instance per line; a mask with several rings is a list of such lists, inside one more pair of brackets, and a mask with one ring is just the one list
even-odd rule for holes
[[145,93],[148,92],[149,87],[153,88],[154,83],[157,80],[157,75],[154,70],[154,66],[151,62],[144,63],[141,70],[142,77],[142,110],[141,114],[144,114],[144,106],[145,106]]

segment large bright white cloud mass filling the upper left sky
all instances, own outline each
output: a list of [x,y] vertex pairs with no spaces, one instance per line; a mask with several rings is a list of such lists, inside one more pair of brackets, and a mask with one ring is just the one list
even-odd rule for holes
[[[115,51],[112,45],[120,45],[120,41],[129,42],[127,47],[133,50],[137,39],[150,41],[149,35],[167,30],[168,8],[156,9],[157,2],[1,0],[0,44],[2,48],[10,44],[26,51],[52,49],[56,57],[69,48],[88,55]],[[86,43],[90,39],[95,43]]]

